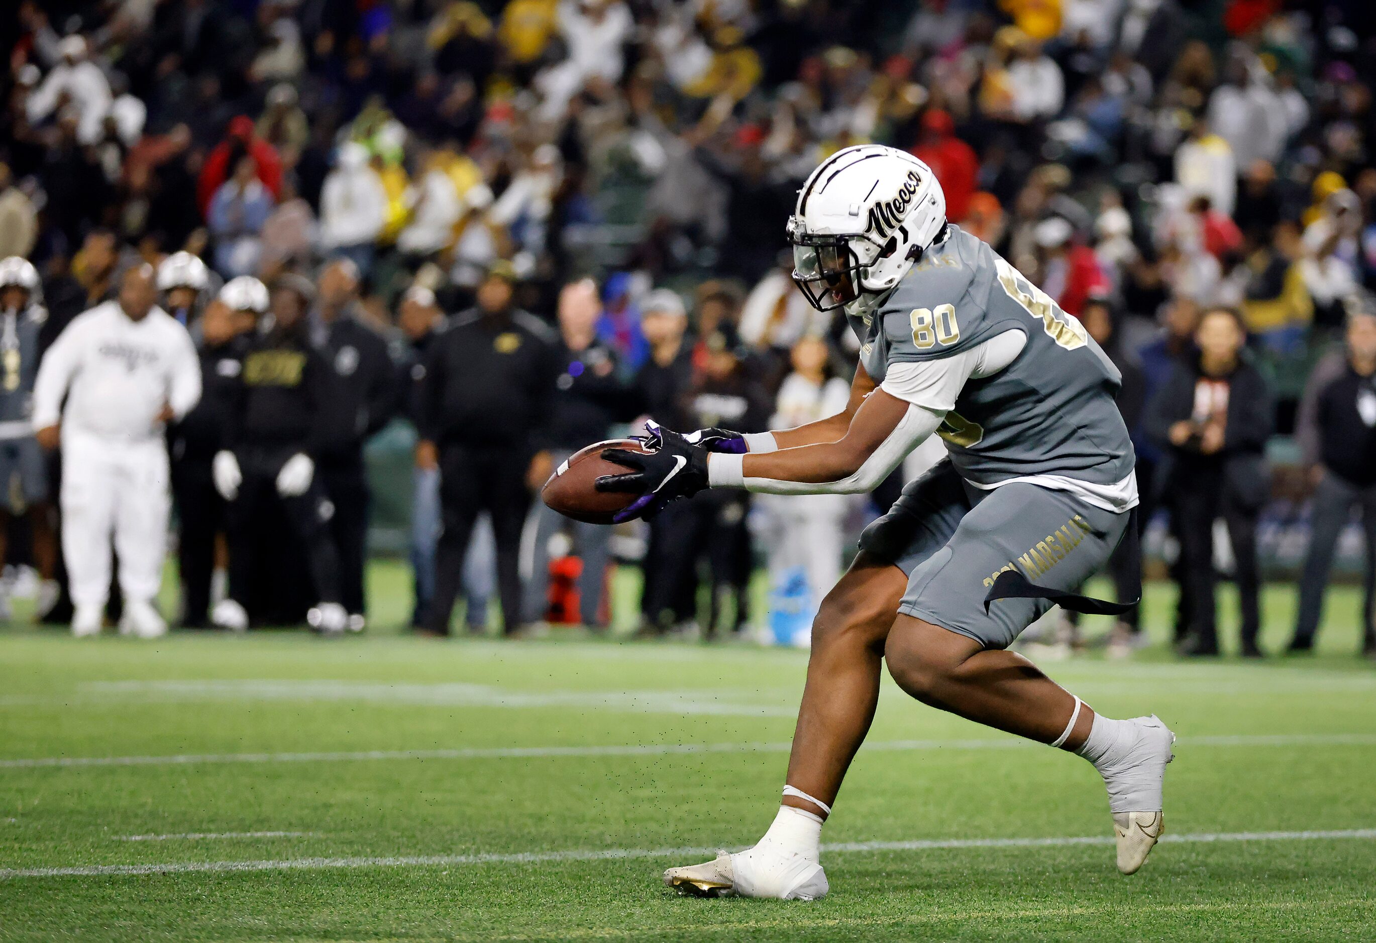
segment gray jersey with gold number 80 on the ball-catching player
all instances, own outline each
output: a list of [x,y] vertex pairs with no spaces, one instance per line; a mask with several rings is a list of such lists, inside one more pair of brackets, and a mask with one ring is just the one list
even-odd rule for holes
[[893,363],[947,357],[1010,330],[1026,335],[1011,364],[966,381],[937,433],[967,481],[1057,474],[1115,484],[1132,470],[1113,403],[1117,368],[1079,320],[969,232],[952,225],[870,318],[852,316],[850,326],[877,382]]

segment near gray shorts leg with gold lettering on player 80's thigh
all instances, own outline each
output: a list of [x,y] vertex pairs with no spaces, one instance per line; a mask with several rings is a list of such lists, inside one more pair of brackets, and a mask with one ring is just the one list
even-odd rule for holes
[[1104,566],[1128,514],[1115,514],[1061,491],[1003,485],[967,513],[951,540],[908,581],[899,612],[1003,649],[1051,608],[1047,599],[984,598],[1004,569],[1038,586],[1073,590]]

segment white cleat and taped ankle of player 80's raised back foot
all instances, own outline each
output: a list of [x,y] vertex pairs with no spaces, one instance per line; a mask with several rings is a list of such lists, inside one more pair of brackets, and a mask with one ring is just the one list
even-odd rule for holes
[[1165,764],[1175,759],[1175,734],[1160,718],[1153,713],[1128,723],[1137,727],[1137,742],[1110,768],[1099,770],[1113,812],[1117,866],[1124,874],[1135,873],[1161,837]]

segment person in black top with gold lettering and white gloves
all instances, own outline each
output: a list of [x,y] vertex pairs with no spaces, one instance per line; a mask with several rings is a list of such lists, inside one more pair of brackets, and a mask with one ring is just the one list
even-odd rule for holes
[[333,370],[307,333],[314,297],[315,289],[300,275],[278,279],[270,296],[271,326],[248,334],[244,367],[227,390],[222,450],[211,470],[216,491],[228,502],[230,592],[211,619],[230,631],[245,631],[253,612],[272,612],[256,605],[263,595],[256,591],[263,579],[256,564],[271,559],[263,553],[266,546],[282,543],[281,518],[286,536],[301,547],[310,595],[319,601],[307,613],[308,624],[326,634],[348,627],[329,503],[315,474],[315,458],[332,451],[338,433],[329,422],[337,412]]

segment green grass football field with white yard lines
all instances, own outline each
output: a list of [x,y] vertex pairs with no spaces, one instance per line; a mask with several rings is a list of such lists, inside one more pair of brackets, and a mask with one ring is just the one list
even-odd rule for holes
[[[1139,874],[1113,867],[1093,767],[886,685],[823,833],[832,894],[780,903],[659,873],[768,825],[804,653],[402,638],[400,570],[373,587],[374,628],[334,642],[0,631],[0,939],[1376,936],[1351,590],[1307,660],[1047,665],[1181,735],[1172,841]],[[1161,641],[1171,601],[1152,587]],[[1292,590],[1266,606],[1274,649]]]

